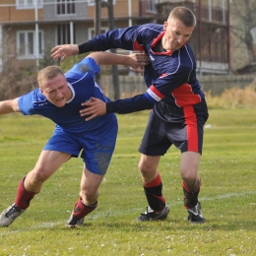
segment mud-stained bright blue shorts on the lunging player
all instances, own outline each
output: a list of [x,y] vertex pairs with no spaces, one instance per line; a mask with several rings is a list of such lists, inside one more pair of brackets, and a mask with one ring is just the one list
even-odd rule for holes
[[56,127],[43,150],[68,153],[75,158],[81,153],[88,170],[104,175],[114,152],[117,131],[114,115],[104,126],[90,133],[73,134]]

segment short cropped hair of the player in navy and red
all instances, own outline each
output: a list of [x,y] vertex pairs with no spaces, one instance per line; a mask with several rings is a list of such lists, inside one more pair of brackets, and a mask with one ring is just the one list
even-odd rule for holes
[[169,13],[168,20],[169,19],[178,19],[187,28],[196,27],[197,24],[197,20],[193,12],[184,6],[175,7]]

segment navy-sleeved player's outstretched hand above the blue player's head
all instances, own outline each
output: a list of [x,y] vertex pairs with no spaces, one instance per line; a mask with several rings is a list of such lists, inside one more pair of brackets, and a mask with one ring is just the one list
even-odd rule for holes
[[79,48],[77,44],[62,44],[51,49],[51,57],[53,59],[60,58],[60,62],[63,62],[69,56],[78,54]]

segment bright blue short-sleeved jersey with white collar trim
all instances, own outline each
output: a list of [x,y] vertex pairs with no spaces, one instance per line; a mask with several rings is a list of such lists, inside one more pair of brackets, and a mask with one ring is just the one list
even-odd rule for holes
[[73,96],[63,107],[52,104],[39,89],[35,89],[19,97],[20,111],[25,115],[45,116],[56,123],[56,129],[60,128],[69,133],[90,133],[96,131],[97,128],[104,127],[109,119],[115,118],[113,114],[98,116],[87,122],[79,112],[83,108],[81,103],[90,100],[91,96],[98,97],[105,102],[109,101],[94,80],[97,72],[99,72],[99,67],[95,60],[85,58],[65,74]]

